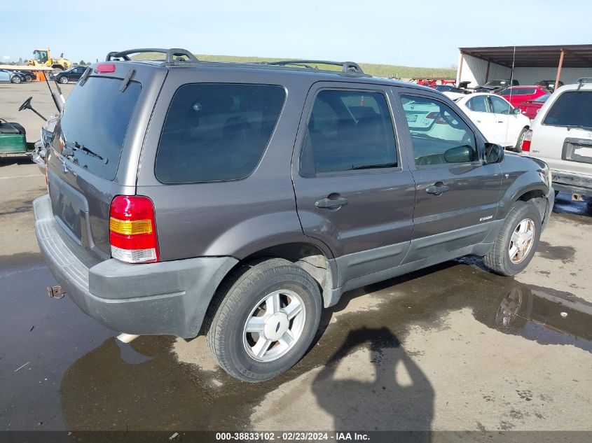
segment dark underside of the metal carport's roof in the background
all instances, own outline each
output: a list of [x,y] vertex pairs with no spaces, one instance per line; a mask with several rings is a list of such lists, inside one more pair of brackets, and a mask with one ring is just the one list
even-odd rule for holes
[[592,66],[592,45],[553,46],[490,46],[483,48],[460,48],[460,52],[491,63],[511,67],[557,67],[563,50],[564,68],[589,68]]

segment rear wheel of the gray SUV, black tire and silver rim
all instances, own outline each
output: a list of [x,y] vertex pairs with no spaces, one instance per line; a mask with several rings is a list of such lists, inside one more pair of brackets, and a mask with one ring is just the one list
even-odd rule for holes
[[[264,301],[270,299],[279,300],[280,309]],[[289,320],[289,307],[298,304],[301,311],[292,311]],[[207,345],[232,377],[250,383],[273,379],[308,350],[321,309],[319,285],[304,269],[281,258],[251,262],[235,269],[214,295],[205,318]],[[266,321],[256,322],[261,333],[247,332],[247,322],[255,325],[249,319],[266,316]],[[284,339],[287,333],[296,337],[293,344]]]

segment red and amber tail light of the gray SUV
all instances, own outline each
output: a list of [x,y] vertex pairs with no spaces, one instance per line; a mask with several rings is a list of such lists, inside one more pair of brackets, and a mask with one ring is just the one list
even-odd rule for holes
[[158,262],[158,237],[152,200],[142,195],[117,195],[109,218],[111,257],[128,263]]

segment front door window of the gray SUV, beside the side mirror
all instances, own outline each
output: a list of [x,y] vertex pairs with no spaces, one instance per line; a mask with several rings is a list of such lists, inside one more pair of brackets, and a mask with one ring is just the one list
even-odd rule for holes
[[425,97],[401,96],[418,167],[479,160],[471,128],[448,105]]

